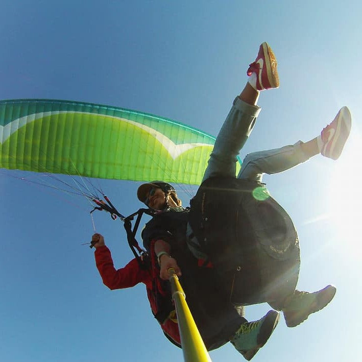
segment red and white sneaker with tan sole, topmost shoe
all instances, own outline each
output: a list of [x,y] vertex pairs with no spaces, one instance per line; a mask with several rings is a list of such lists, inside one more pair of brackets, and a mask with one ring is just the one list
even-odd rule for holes
[[[255,73],[256,77],[252,76],[253,73]],[[260,45],[255,62],[249,64],[247,75],[252,76],[249,83],[256,90],[279,87],[277,60],[268,43],[263,42]]]

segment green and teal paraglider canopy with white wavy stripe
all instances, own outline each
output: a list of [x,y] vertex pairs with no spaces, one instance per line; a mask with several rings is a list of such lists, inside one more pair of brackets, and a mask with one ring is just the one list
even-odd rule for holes
[[0,102],[0,167],[200,184],[215,138],[171,119],[56,100]]

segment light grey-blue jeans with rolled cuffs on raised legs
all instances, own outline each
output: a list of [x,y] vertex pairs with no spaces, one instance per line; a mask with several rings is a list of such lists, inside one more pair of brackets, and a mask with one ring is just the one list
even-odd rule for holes
[[[235,177],[237,155],[253,130],[259,112],[259,107],[235,98],[216,137],[203,181],[216,176]],[[237,178],[261,182],[263,174],[277,174],[305,162],[309,157],[302,151],[301,143],[248,154]]]

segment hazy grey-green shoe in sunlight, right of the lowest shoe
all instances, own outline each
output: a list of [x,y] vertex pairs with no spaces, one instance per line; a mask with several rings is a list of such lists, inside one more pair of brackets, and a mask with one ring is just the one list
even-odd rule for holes
[[283,308],[285,323],[295,327],[305,321],[311,313],[324,308],[334,297],[336,288],[327,285],[318,292],[308,293],[295,291]]

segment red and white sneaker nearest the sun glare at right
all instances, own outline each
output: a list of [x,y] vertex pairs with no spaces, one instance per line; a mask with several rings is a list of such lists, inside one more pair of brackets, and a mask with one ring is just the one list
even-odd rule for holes
[[342,107],[332,122],[323,129],[317,138],[318,147],[323,156],[336,160],[340,157],[343,147],[351,131],[351,113],[348,107]]

